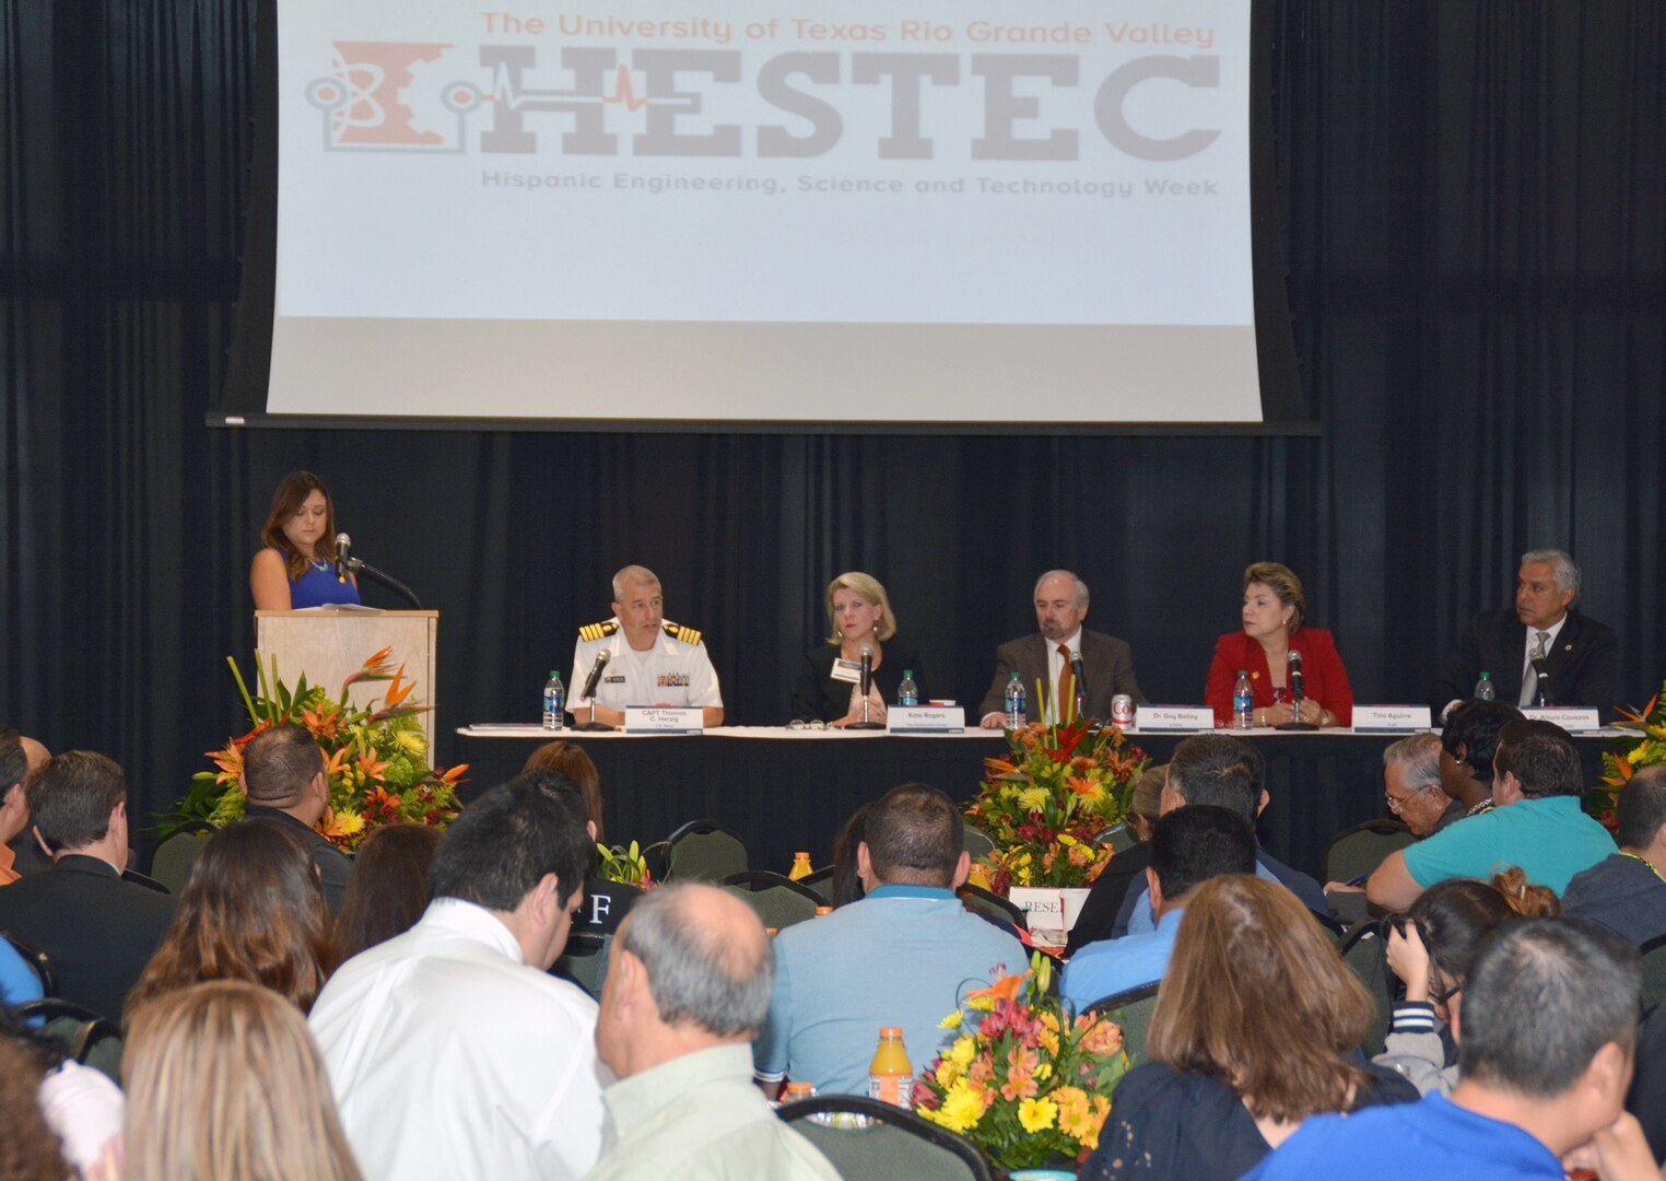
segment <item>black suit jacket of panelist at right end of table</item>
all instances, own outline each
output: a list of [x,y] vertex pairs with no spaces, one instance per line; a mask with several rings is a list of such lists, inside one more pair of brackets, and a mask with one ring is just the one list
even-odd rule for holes
[[[1516,618],[1514,610],[1474,616],[1429,690],[1434,716],[1439,716],[1448,701],[1468,701],[1474,696],[1474,683],[1483,670],[1493,675],[1498,700],[1516,705],[1521,700],[1526,643],[1526,625]],[[1611,628],[1568,611],[1544,666],[1556,705],[1594,706],[1603,711],[1604,720],[1613,713],[1619,686],[1619,640]]]

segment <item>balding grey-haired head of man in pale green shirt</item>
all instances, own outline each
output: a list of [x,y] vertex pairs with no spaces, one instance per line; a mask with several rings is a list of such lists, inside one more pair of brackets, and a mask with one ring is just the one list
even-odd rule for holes
[[665,1024],[748,1041],[763,1028],[775,954],[740,898],[693,883],[660,886],[631,906],[618,943],[641,961]]

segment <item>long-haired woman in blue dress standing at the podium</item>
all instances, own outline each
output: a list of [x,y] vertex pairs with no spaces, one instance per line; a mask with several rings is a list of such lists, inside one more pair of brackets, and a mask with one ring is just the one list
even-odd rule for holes
[[260,541],[265,548],[248,568],[257,611],[358,601],[353,575],[337,578],[335,505],[312,471],[292,471],[278,483]]

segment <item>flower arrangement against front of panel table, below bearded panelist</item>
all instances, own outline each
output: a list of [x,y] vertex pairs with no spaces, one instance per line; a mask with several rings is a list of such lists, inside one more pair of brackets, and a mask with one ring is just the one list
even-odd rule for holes
[[1133,785],[1151,760],[1118,726],[1033,721],[1006,731],[1006,758],[986,758],[966,820],[990,835],[990,889],[1090,886],[1111,860],[1096,833],[1128,816]]

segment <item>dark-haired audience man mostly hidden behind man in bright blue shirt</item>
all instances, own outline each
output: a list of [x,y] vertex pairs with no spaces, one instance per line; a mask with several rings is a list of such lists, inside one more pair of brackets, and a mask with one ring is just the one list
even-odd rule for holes
[[[1253,745],[1243,743],[1231,735],[1196,735],[1185,738],[1175,746],[1175,755],[1168,763],[1168,780],[1163,785],[1163,811],[1170,813],[1186,805],[1215,805],[1228,808],[1254,826],[1256,816],[1268,805],[1266,760]],[[1278,861],[1271,853],[1256,848],[1256,876],[1278,881],[1289,889],[1301,904],[1319,914],[1329,914],[1324,891],[1308,875],[1291,870]],[[1146,885],[1138,883],[1123,898],[1123,906],[1116,914],[1113,934],[1141,934],[1156,929],[1151,918]]]

